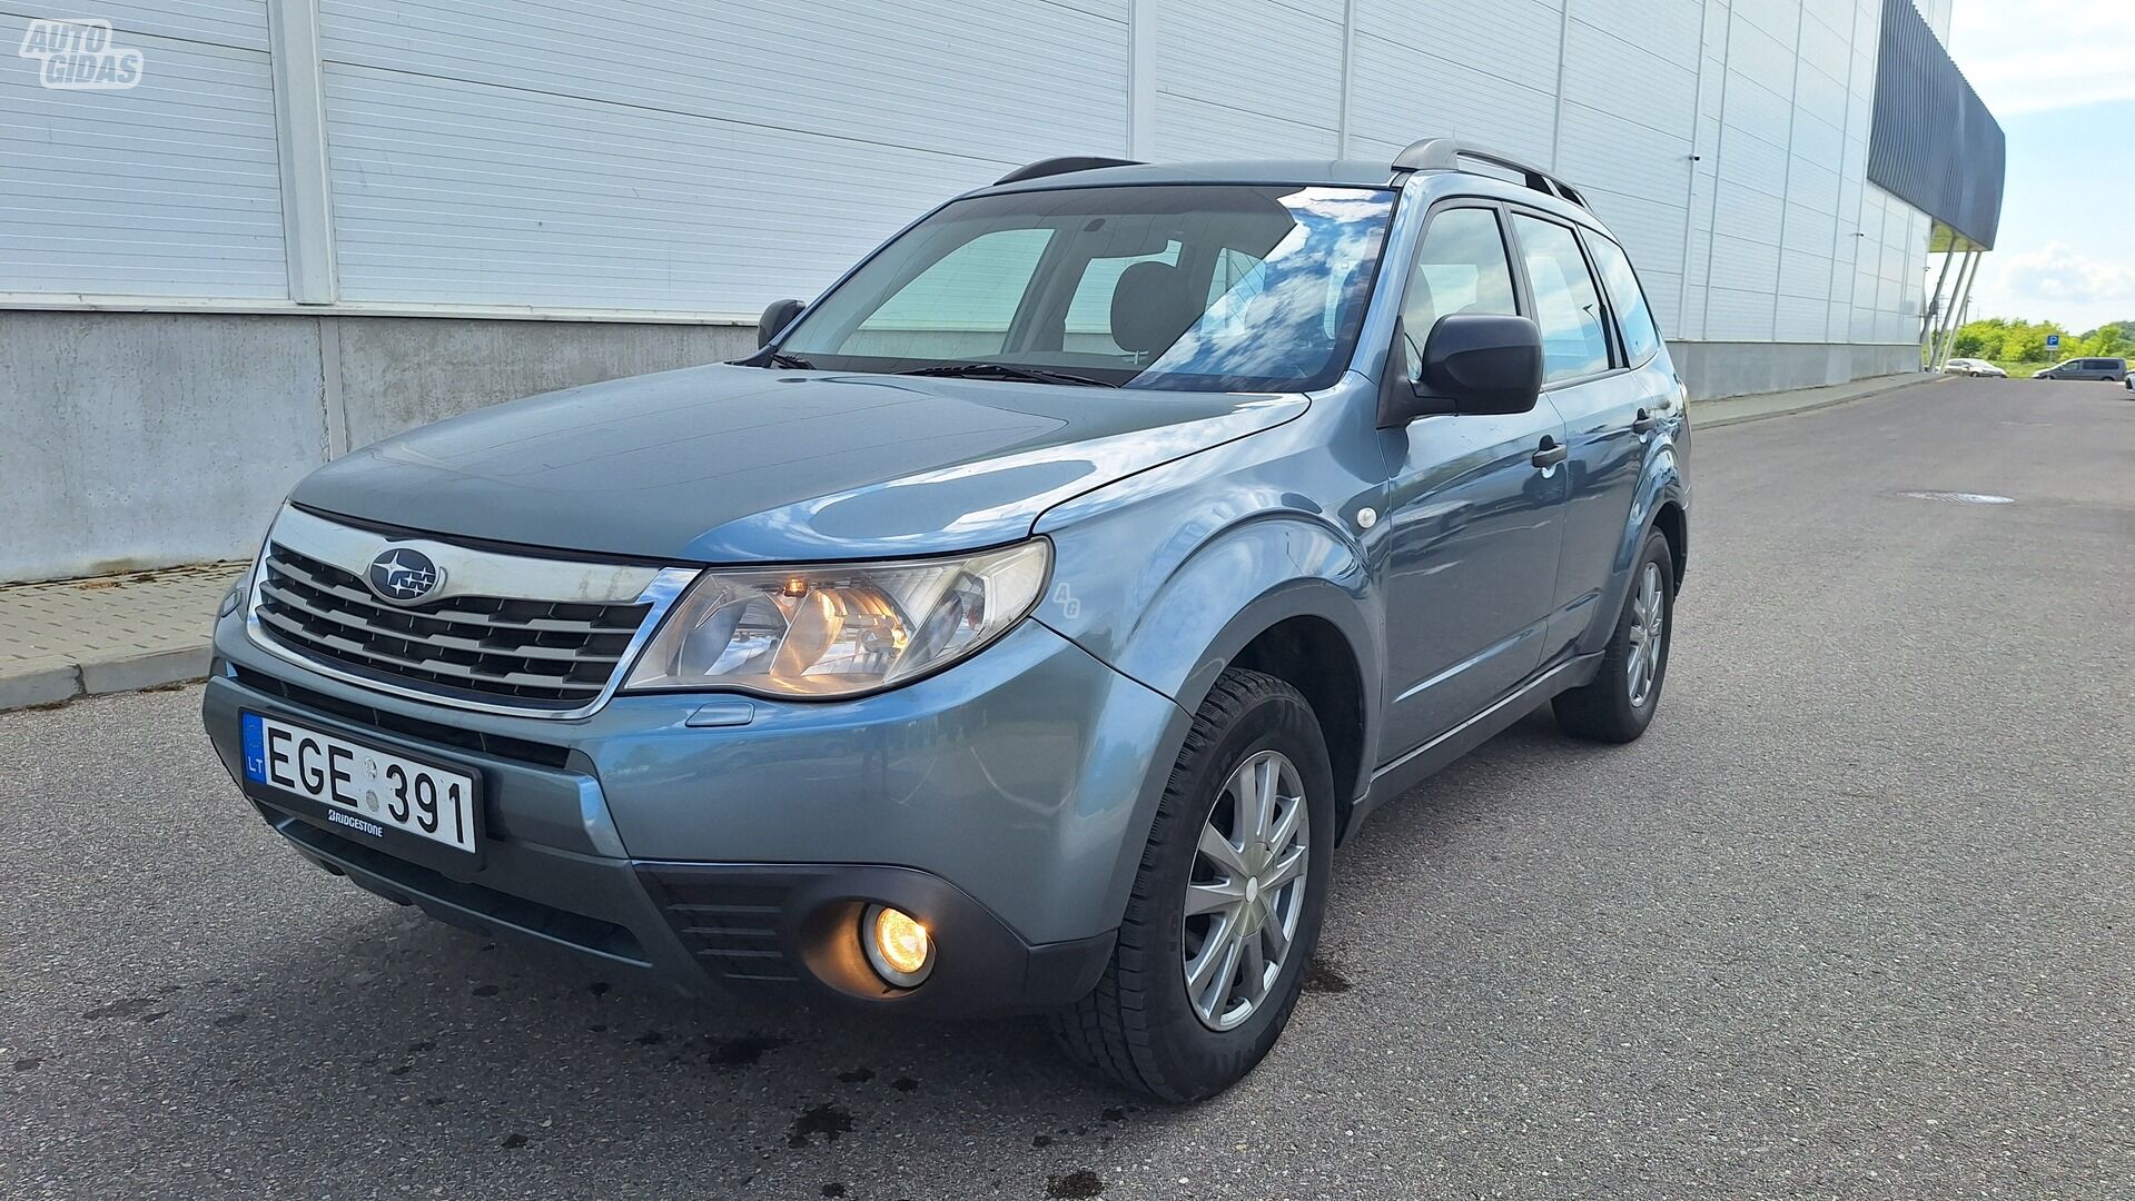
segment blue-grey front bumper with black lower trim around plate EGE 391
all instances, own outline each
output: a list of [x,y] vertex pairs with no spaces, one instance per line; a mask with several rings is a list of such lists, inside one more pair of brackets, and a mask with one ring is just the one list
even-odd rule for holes
[[[717,721],[690,725],[719,702]],[[745,721],[737,721],[739,710]],[[416,862],[243,779],[241,712],[483,781],[480,855]],[[1095,986],[1187,717],[1038,623],[939,676],[837,704],[623,695],[576,721],[461,712],[216,631],[207,732],[314,864],[444,922],[645,971],[924,1013]],[[935,932],[916,990],[858,956],[867,902]]]

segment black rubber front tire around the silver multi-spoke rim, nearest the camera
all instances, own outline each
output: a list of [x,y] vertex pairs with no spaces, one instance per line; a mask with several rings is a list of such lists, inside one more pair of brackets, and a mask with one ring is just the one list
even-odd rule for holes
[[[1281,762],[1292,768],[1290,776],[1281,774]],[[1296,811],[1304,840],[1298,849],[1304,879],[1294,881],[1298,885],[1294,892],[1270,885],[1266,892],[1243,894],[1245,900],[1236,911],[1187,915],[1189,885],[1202,890],[1204,902],[1219,890],[1245,887],[1236,883],[1236,875],[1221,875],[1221,864],[1202,849],[1202,832],[1206,828],[1221,838],[1238,830],[1243,806],[1228,785],[1234,772],[1249,766],[1266,770],[1268,764],[1279,781],[1287,781],[1279,783],[1277,794],[1287,787],[1302,791],[1302,798],[1290,804],[1277,800],[1275,811],[1279,815]],[[1281,836],[1283,821],[1270,826]],[[1245,855],[1258,855],[1264,843],[1270,838],[1260,843],[1245,838]],[[1234,847],[1232,855],[1236,853]],[[1275,676],[1236,668],[1223,672],[1193,715],[1185,749],[1164,787],[1112,947],[1112,962],[1089,996],[1053,1018],[1061,1047],[1112,1084],[1168,1103],[1215,1096],[1245,1079],[1275,1045],[1298,1003],[1304,964],[1319,943],[1332,860],[1334,776],[1311,704]],[[1275,855],[1264,875],[1275,879],[1285,862],[1287,855]],[[1245,879],[1253,879],[1247,862],[1238,866],[1247,868]],[[1258,879],[1253,887],[1258,890]],[[1202,962],[1189,956],[1189,947],[1208,951],[1215,943],[1221,949],[1225,943],[1217,934],[1219,922],[1234,919],[1232,913],[1240,917],[1228,930],[1253,930],[1255,922],[1243,915],[1255,898],[1266,902],[1258,922],[1260,932],[1234,939],[1240,945],[1240,971],[1232,971],[1221,988],[1247,988],[1243,981],[1253,977],[1243,964],[1251,954],[1262,956],[1258,979],[1268,981],[1272,966],[1272,981],[1249,1009],[1225,1011],[1236,1018],[1234,1024],[1221,1026],[1223,1013],[1215,1013],[1217,1024],[1211,1024],[1189,996],[1187,971],[1193,962]],[[1268,951],[1292,907],[1296,907],[1294,926],[1277,966]],[[1206,962],[1208,979],[1215,981],[1221,975],[1221,954]],[[1208,996],[1211,990],[1202,990],[1204,1007]],[[1217,1003],[1211,1011],[1217,1009],[1225,1007]]]

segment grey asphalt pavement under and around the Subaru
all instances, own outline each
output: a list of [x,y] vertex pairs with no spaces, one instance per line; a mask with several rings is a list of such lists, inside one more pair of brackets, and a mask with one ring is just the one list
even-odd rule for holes
[[1035,1022],[395,909],[252,817],[196,687],[0,715],[0,1195],[2135,1197],[2135,397],[1904,388],[1693,469],[1646,738],[1544,712],[1373,817],[1191,1109]]

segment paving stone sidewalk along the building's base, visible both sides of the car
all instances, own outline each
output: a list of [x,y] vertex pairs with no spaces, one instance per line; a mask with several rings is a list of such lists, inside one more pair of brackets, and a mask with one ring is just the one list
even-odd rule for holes
[[[1787,416],[1932,380],[1885,375],[1695,401],[1691,427]],[[216,602],[243,570],[246,563],[203,563],[100,580],[0,585],[0,710],[205,676]]]

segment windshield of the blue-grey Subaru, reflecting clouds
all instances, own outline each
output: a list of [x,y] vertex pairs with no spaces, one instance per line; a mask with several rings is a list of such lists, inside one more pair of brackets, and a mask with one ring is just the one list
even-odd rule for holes
[[1324,388],[1349,363],[1392,211],[1375,188],[974,196],[867,260],[777,350],[835,371]]

